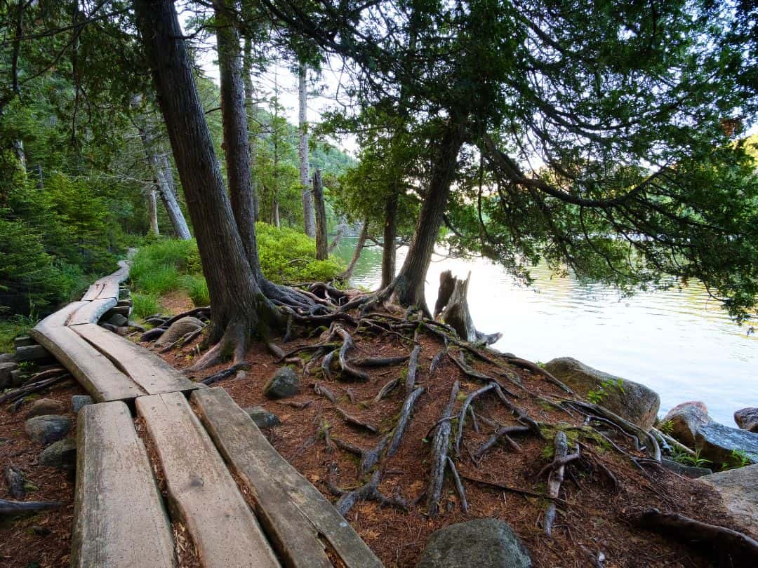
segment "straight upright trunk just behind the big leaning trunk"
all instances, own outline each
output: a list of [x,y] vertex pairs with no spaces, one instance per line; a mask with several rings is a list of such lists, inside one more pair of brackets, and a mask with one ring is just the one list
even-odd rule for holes
[[258,282],[262,279],[255,239],[250,151],[242,78],[240,38],[227,16],[223,0],[215,0],[218,70],[221,82],[221,119],[224,126],[224,156],[232,212],[247,253],[250,269]]

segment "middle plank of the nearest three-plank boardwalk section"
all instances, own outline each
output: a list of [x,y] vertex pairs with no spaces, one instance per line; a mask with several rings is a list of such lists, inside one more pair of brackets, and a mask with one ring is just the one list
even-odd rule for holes
[[234,479],[184,396],[136,399],[163,467],[172,510],[193,536],[203,566],[279,566]]

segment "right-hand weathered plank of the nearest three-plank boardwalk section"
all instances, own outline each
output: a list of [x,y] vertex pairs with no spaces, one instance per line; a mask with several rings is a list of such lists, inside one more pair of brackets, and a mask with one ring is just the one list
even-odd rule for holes
[[192,399],[229,467],[252,492],[261,522],[290,566],[324,565],[315,552],[316,535],[321,535],[349,568],[382,566],[334,506],[280,456],[224,389],[196,391]]

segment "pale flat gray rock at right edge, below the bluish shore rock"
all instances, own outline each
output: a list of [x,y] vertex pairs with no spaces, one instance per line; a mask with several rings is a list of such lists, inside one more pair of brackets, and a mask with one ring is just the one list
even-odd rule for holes
[[713,473],[700,481],[713,485],[726,509],[758,537],[758,465]]

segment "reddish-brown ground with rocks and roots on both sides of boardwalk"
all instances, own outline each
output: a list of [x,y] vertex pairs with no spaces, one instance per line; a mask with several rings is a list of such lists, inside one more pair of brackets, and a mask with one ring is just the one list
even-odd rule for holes
[[[181,298],[173,298],[173,302],[174,311],[191,307]],[[384,321],[391,323],[403,318],[402,313],[388,314]],[[324,339],[330,340],[330,349],[331,344],[339,347],[340,337],[335,338],[326,328],[303,328],[295,330],[291,341],[285,343],[277,338],[276,344],[284,351],[305,349],[283,361],[265,345],[256,343],[246,354],[251,364],[249,370],[240,375],[229,373],[218,385],[227,389],[240,406],[249,409],[280,454],[346,510],[346,519],[387,566],[459,566],[464,560],[481,566],[503,566],[508,565],[506,559],[512,566],[528,566],[531,562],[532,566],[606,568],[711,566],[719,562],[719,555],[707,547],[697,548],[670,533],[662,535],[638,526],[643,518],[641,513],[652,508],[758,537],[755,532],[750,533],[755,524],[751,529],[749,511],[747,517],[744,514],[740,517],[739,511],[730,513],[722,503],[719,491],[724,492],[729,484],[740,485],[734,477],[720,485],[703,483],[651,463],[650,444],[644,447],[644,441],[634,442],[631,439],[634,435],[630,437],[603,423],[603,418],[587,411],[587,407],[561,405],[566,398],[574,397],[548,380],[538,368],[525,368],[523,364],[513,364],[513,359],[496,356],[483,360],[455,345],[440,356],[444,347],[440,335],[425,329],[406,333],[403,326],[385,325],[383,329],[381,318],[374,321],[375,324],[362,326],[358,331],[347,324],[343,327],[355,342],[346,354],[346,362],[348,369],[358,371],[356,374],[340,368],[338,354],[325,365],[324,355],[328,354],[312,347]],[[189,327],[177,339],[186,338],[188,333]],[[139,339],[139,334],[133,335],[133,339]],[[176,339],[168,342],[164,338],[163,348],[155,347],[154,340],[143,345],[163,351],[166,345],[174,344],[174,349],[161,356],[174,367],[185,369],[196,358],[202,335],[182,346],[175,343]],[[409,383],[406,357],[414,352],[418,366],[415,380],[406,390]],[[318,356],[309,364],[312,354]],[[382,367],[356,363],[384,357],[400,359]],[[287,367],[291,370],[281,370]],[[224,365],[211,368],[196,378],[213,376],[224,368]],[[277,371],[278,378],[272,380]],[[378,397],[383,387],[395,379],[395,388],[385,397]],[[506,398],[511,407],[493,388],[475,396],[471,402],[473,415],[464,414],[456,453],[458,413],[467,398],[490,385],[490,379],[509,391]],[[612,393],[615,383],[603,378],[599,381],[600,386],[587,387],[586,392],[577,390],[585,397],[597,398],[589,393],[596,393],[605,385],[605,402],[610,406],[612,396],[608,393]],[[456,387],[457,394],[452,397],[453,420],[440,420]],[[626,389],[631,392],[630,385]],[[414,395],[411,411],[405,413],[403,409],[414,392],[418,394]],[[58,407],[48,410],[73,420],[72,396],[81,394],[77,385],[64,381],[36,398],[49,399],[49,404],[58,403]],[[17,408],[11,404],[0,407],[0,464],[5,469],[12,463],[23,471],[35,487],[29,486],[27,499],[61,501],[63,506],[4,522],[0,528],[0,559],[4,566],[68,563],[72,472],[65,469],[67,463],[58,464],[63,469],[43,465],[40,454],[51,443],[65,450],[65,444],[70,442],[61,445],[37,434],[34,428],[30,432],[45,443],[30,438],[27,420],[34,404],[34,400],[24,400]],[[522,413],[522,420],[516,420],[514,407]],[[623,414],[624,409],[615,410]],[[655,412],[651,418],[650,409],[644,404],[638,404],[634,412],[637,414],[630,410],[625,418],[645,427],[646,421],[654,420]],[[518,427],[530,423],[529,420],[536,427],[520,431]],[[61,421],[55,422],[60,427],[53,428],[57,432],[53,438],[70,439],[73,432],[63,432]],[[393,445],[401,422],[402,435],[396,451],[389,455],[387,447]],[[431,503],[430,476],[437,457],[433,447],[443,430],[440,426],[448,423],[452,437],[445,447],[449,448],[449,457],[459,473],[462,490],[456,489],[452,470],[446,469],[440,497]],[[508,427],[516,429],[509,437],[500,436],[487,447],[493,434]],[[578,450],[579,456],[562,467],[562,483],[557,497],[552,498],[550,492],[561,469],[554,460],[558,432],[566,436],[568,454]],[[381,449],[377,452],[377,463],[364,467],[375,448]],[[65,451],[59,454],[62,460],[67,459],[64,456],[70,459]],[[750,468],[744,468],[743,472],[745,479],[755,479]],[[377,485],[371,491],[354,492],[365,489],[374,477]],[[7,484],[0,491],[0,498],[12,498]],[[551,505],[555,520],[548,536],[546,520],[553,514]],[[439,513],[434,515],[432,509],[437,507]],[[453,564],[459,560],[459,564]],[[728,562],[724,557],[721,560]]]

